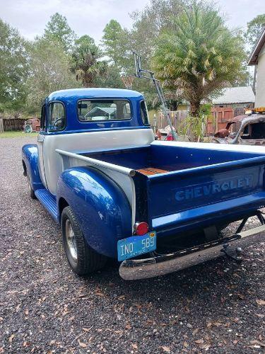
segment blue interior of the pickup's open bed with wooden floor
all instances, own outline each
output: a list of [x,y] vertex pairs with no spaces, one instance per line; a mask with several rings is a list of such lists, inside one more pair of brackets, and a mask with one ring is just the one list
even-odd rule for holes
[[[151,144],[147,147],[114,149],[104,152],[83,152],[81,154],[110,164],[134,169],[146,175],[194,169],[195,167],[242,161],[262,156],[262,154],[251,152],[172,147],[169,144]],[[148,169],[150,170],[149,172],[153,173],[148,173]]]

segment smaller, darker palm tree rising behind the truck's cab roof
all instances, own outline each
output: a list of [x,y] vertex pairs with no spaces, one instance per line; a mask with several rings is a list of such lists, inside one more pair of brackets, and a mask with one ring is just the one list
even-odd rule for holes
[[84,87],[93,86],[95,77],[105,74],[107,63],[100,61],[100,57],[102,57],[102,52],[89,35],[83,35],[76,40],[71,71],[76,74],[77,81],[82,81]]

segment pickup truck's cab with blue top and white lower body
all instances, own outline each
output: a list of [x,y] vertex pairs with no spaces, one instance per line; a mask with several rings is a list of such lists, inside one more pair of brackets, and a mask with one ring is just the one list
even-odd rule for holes
[[62,172],[56,149],[86,152],[137,147],[153,139],[146,102],[140,93],[118,89],[54,92],[42,105],[37,137],[41,181],[56,195]]

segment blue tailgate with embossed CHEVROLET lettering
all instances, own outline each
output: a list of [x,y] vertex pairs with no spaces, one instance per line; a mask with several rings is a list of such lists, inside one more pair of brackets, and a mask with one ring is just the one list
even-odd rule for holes
[[265,157],[148,176],[148,222],[170,224],[264,205]]

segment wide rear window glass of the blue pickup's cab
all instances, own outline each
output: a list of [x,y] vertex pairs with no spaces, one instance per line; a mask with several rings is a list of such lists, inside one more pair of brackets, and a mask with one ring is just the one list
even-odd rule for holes
[[78,119],[81,122],[131,119],[131,105],[126,100],[78,101]]

